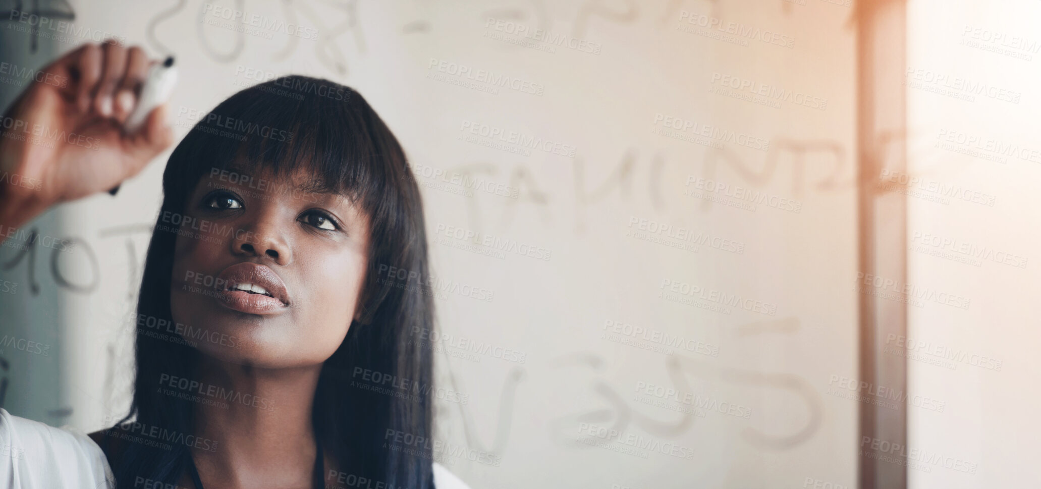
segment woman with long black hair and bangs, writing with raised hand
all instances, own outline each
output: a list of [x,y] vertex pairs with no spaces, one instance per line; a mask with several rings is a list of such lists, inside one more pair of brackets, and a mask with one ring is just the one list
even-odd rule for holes
[[[105,43],[45,69],[69,82],[33,84],[6,117],[99,148],[0,138],[0,170],[40,182],[0,188],[0,225],[112,188],[172,143],[164,106],[123,128],[149,62]],[[414,280],[423,206],[389,129],[351,88],[296,76],[200,115],[163,173],[129,413],[87,439],[0,410],[0,443],[18,448],[0,481],[465,487],[432,463],[432,349],[411,340],[433,323]]]

